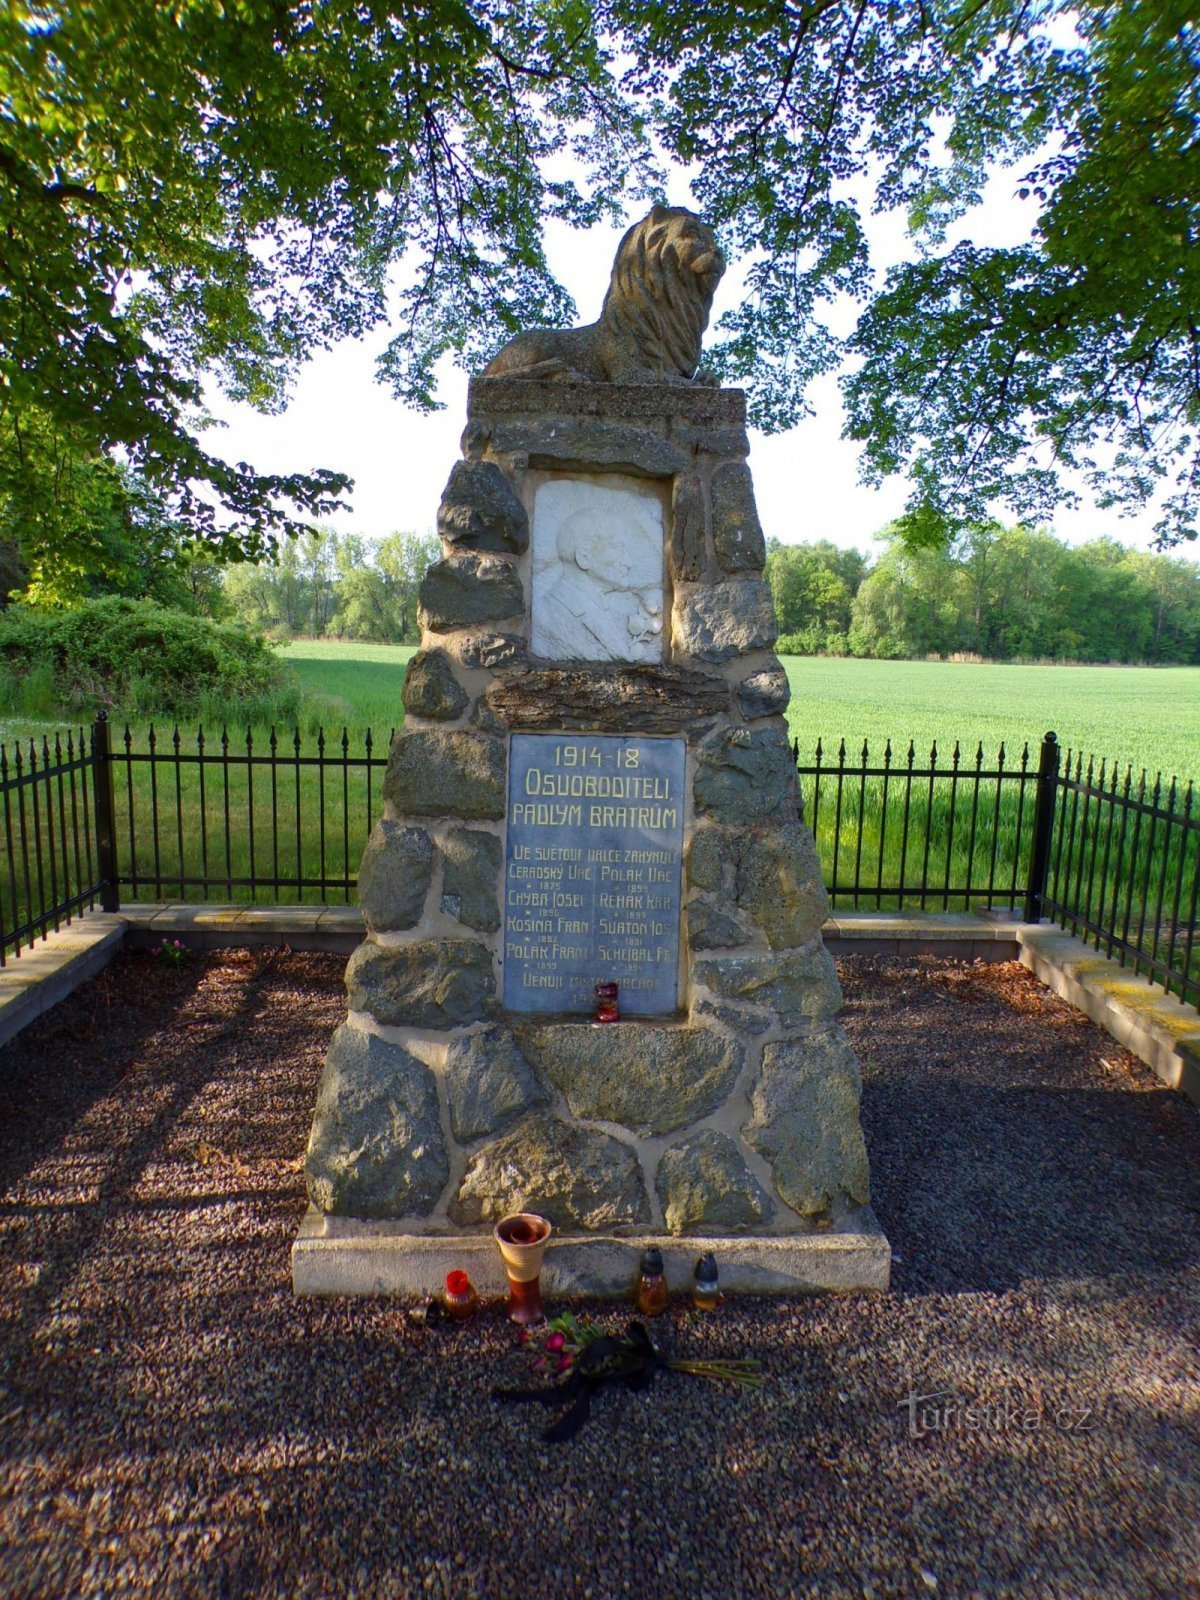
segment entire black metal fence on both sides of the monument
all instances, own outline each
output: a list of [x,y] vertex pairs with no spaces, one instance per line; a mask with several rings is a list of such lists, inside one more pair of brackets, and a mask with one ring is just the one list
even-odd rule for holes
[[[389,738],[85,730],[0,747],[0,965],[80,907],[355,894]],[[1194,786],[1067,752],[795,750],[835,909],[1051,917],[1200,1002]],[[1085,766],[1086,762],[1086,766]]]

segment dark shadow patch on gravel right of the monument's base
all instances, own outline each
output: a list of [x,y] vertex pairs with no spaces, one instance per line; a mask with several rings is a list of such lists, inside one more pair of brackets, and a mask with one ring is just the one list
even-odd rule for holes
[[899,1290],[1200,1261],[1200,1118],[1179,1096],[869,1082],[862,1125]]

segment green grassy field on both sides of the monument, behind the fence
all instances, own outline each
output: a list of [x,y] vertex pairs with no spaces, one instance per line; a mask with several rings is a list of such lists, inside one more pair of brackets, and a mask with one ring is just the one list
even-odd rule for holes
[[[130,862],[136,861],[139,874],[136,890],[123,890],[123,894],[130,899],[250,899],[250,890],[237,880],[264,869],[293,880],[352,880],[370,819],[379,811],[382,778],[378,765],[368,773],[360,763],[363,734],[371,730],[376,762],[386,758],[389,731],[402,720],[403,675],[413,653],[413,646],[397,645],[296,642],[286,646],[285,659],[298,672],[309,699],[299,760],[290,730],[280,730],[278,752],[290,763],[282,768],[248,762],[245,730],[230,730],[227,760],[210,760],[205,766],[203,803],[197,765],[182,768],[178,779],[173,766],[158,766],[154,773],[149,762],[118,766],[122,872],[128,875]],[[909,741],[915,744],[918,770],[928,763],[934,739],[939,768],[949,765],[955,741],[962,747],[965,779],[947,774],[914,784],[907,808],[904,786],[894,779],[886,786],[878,778],[846,779],[838,786],[826,778],[819,797],[811,779],[805,781],[826,880],[830,885],[858,882],[869,890],[858,901],[838,896],[840,906],[894,907],[901,899],[888,893],[888,885],[901,883],[934,888],[936,893],[925,899],[909,894],[902,901],[930,909],[963,907],[981,899],[1000,902],[1005,891],[1019,899],[1027,870],[1032,786],[1021,795],[1014,784],[1002,786],[998,794],[995,784],[974,784],[971,771],[979,742],[984,770],[995,765],[1000,741],[1006,746],[1006,770],[1019,763],[1026,741],[1035,770],[1038,741],[1053,728],[1064,749],[1115,755],[1136,768],[1144,765],[1150,781],[1158,770],[1200,776],[1200,669],[797,658],[784,664],[792,683],[789,725],[798,739],[802,766],[813,763],[818,738],[826,766],[837,760],[842,739],[851,762],[861,757],[866,739],[872,766],[882,762],[891,739],[893,770],[899,771]],[[323,760],[314,738],[317,722],[326,731]],[[350,734],[350,760],[358,763],[349,771],[341,763],[344,726]],[[219,730],[211,730],[210,757],[222,755],[218,736]],[[267,738],[269,730],[253,730],[253,757],[269,754]],[[115,742],[120,749],[120,741]],[[144,730],[134,731],[133,747],[146,749]],[[160,750],[170,750],[170,733]],[[182,752],[195,754],[194,731],[184,734]],[[1077,842],[1080,859],[1093,859],[1093,838],[1102,846],[1104,824],[1099,810],[1083,816]],[[1192,843],[1187,848],[1195,850]],[[1102,851],[1096,859],[1102,859]],[[1154,837],[1142,835],[1136,856],[1131,854],[1125,872],[1112,875],[1106,893],[1123,901],[1131,880],[1157,883],[1163,862],[1171,883],[1179,867],[1178,851],[1163,858]],[[1190,883],[1190,854],[1182,866]],[[1094,872],[1094,862],[1088,872]],[[206,891],[186,882],[198,875],[221,882]],[[6,901],[11,898],[6,885],[0,885],[0,891]],[[314,901],[322,898],[322,890],[293,882],[278,891],[259,891],[258,898]],[[330,893],[330,898],[342,899],[344,893]],[[8,904],[5,910],[11,923]]]

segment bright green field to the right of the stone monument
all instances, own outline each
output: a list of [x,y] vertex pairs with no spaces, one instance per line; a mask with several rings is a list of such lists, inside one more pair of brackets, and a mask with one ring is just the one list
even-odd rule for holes
[[[822,778],[803,782],[808,819],[814,827],[826,882],[862,885],[867,893],[838,894],[842,907],[901,904],[933,910],[1005,899],[1021,902],[1032,840],[1032,784],[976,784],[973,768],[982,744],[982,770],[995,770],[1005,744],[1005,770],[1019,766],[1029,742],[1029,768],[1037,770],[1042,734],[1053,730],[1064,750],[1117,758],[1122,787],[1133,765],[1131,794],[1139,770],[1147,770],[1146,798],[1155,774],[1168,781],[1200,776],[1200,670],[1133,667],[1021,667],[936,661],[784,662],[792,683],[789,726],[798,741],[800,765],[814,765],[818,739],[822,765],[837,762],[845,739],[848,763],[861,762],[864,741],[869,766],[880,766],[891,741],[893,770],[904,771],[909,741],[917,770],[928,766],[938,742],[938,766],[952,762],[960,744],[960,776],[941,776],[906,789],[878,776]],[[1066,758],[1064,758],[1066,768]],[[1072,771],[1075,765],[1072,763]],[[1182,800],[1182,786],[1176,803]],[[1160,824],[1138,826],[1123,835],[1123,850],[1107,848],[1122,838],[1120,811],[1107,803],[1070,802],[1061,810],[1062,829],[1051,853],[1051,894],[1098,912],[1098,920],[1130,931],[1147,947],[1158,933],[1171,942],[1178,962],[1190,966],[1200,950],[1181,957],[1186,928],[1174,926],[1171,888],[1182,883],[1182,910],[1197,870],[1195,835],[1173,830],[1170,846]],[[906,826],[907,824],[907,826]],[[1059,848],[1061,846],[1061,848]],[[1181,859],[1182,858],[1182,859]],[[1104,864],[1107,861],[1107,872]],[[939,890],[926,899],[888,894],[888,885]],[[1166,904],[1157,906],[1165,888]],[[1102,907],[1102,910],[1101,910]],[[1158,949],[1160,955],[1165,949]]]

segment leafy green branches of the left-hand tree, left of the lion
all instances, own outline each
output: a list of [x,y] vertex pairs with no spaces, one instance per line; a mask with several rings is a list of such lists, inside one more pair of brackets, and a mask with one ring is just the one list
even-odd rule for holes
[[[78,459],[126,458],[216,554],[254,558],[347,480],[222,461],[203,378],[280,408],[312,349],[384,318],[402,258],[416,288],[386,370],[416,403],[443,352],[477,362],[570,314],[542,211],[595,216],[640,142],[614,131],[589,21],[544,0],[0,8],[0,475],[35,541],[62,534],[59,490],[45,453],[34,483],[14,419]],[[568,138],[598,198],[547,189]]]

